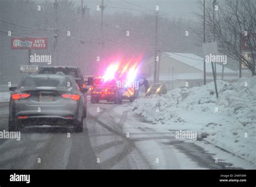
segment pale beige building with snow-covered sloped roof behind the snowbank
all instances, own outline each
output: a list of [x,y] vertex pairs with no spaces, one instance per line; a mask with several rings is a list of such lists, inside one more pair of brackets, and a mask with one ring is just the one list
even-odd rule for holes
[[[167,89],[200,86],[204,84],[204,59],[192,53],[162,52],[159,57],[159,82],[165,82]],[[222,64],[216,64],[217,80],[221,80]],[[147,80],[153,82],[154,56],[143,61],[141,71]],[[224,81],[237,81],[238,71],[224,70]],[[206,82],[213,81],[212,64],[206,63]]]

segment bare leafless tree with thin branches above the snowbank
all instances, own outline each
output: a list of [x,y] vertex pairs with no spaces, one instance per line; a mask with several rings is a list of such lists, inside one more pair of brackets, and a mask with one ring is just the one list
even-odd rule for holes
[[[204,9],[202,1],[198,2],[199,8]],[[206,41],[218,42],[219,52],[226,54],[251,70],[255,76],[256,57],[256,5],[253,0],[225,0],[223,4],[217,4],[215,21],[213,21],[213,7],[209,1],[205,6]],[[203,23],[203,13],[197,14]],[[201,24],[203,26],[203,24]],[[203,29],[194,28],[200,42],[203,42]],[[242,45],[244,44],[244,45]],[[250,54],[248,59],[245,53]]]

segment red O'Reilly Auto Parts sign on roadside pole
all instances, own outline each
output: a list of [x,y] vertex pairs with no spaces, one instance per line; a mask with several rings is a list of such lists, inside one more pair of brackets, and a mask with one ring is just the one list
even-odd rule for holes
[[47,49],[47,38],[11,38],[12,49]]

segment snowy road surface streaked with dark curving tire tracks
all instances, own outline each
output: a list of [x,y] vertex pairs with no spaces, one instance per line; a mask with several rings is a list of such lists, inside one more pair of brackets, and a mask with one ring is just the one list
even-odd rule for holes
[[[191,142],[158,131],[130,103],[87,106],[84,132],[32,127],[21,140],[0,139],[0,169],[226,169]],[[8,130],[8,103],[0,103],[0,131]],[[70,133],[70,137],[69,137]],[[231,169],[235,169],[231,167]]]

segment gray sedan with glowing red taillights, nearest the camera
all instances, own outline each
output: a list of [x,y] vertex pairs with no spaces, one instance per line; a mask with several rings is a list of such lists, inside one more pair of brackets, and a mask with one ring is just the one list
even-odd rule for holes
[[[83,131],[84,98],[68,75],[26,75],[11,87],[9,131],[26,126],[73,126]],[[84,90],[86,91],[86,90]]]

